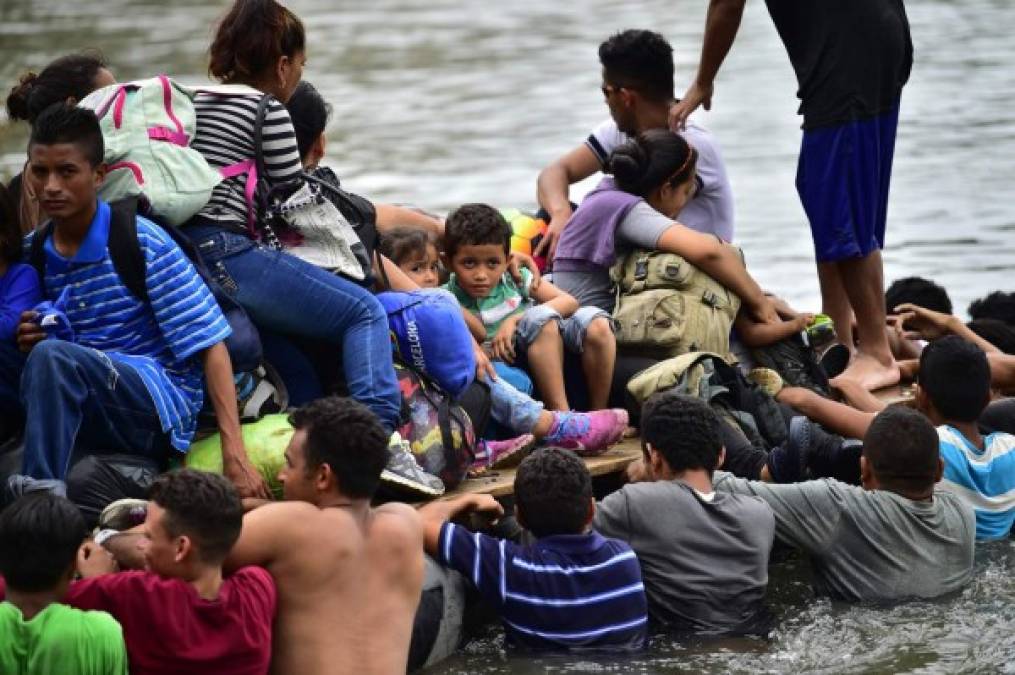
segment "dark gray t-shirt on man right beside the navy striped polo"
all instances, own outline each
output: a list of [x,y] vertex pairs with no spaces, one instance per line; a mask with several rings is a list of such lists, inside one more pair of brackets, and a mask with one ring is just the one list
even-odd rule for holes
[[599,502],[593,528],[634,549],[655,620],[722,631],[762,610],[774,521],[757,497],[631,483]]

